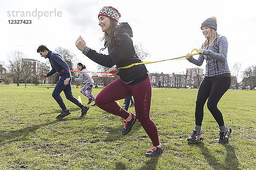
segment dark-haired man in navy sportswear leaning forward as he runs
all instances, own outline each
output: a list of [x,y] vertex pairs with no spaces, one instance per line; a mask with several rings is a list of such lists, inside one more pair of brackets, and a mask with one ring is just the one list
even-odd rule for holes
[[47,74],[40,74],[40,78],[46,78],[51,76],[52,74],[55,74],[58,72],[58,75],[60,79],[58,80],[53,92],[52,92],[52,97],[56,100],[58,105],[61,107],[62,112],[59,114],[56,118],[61,119],[64,118],[67,115],[70,115],[70,111],[67,110],[62,98],[61,98],[61,91],[64,91],[64,94],[68,100],[76,104],[79,108],[81,108],[81,116],[83,117],[86,115],[89,107],[84,106],[79,102],[72,94],[71,90],[71,73],[70,73],[70,68],[67,65],[67,62],[64,61],[64,59],[61,57],[60,54],[54,53],[52,51],[49,51],[47,46],[45,45],[40,45],[37,49],[37,52],[41,55],[41,57],[48,58],[49,62],[51,63],[52,70],[47,73]]

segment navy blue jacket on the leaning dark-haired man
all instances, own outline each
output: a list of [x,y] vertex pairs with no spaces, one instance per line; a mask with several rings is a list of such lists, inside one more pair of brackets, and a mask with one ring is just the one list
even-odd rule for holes
[[47,73],[47,77],[55,74],[56,72],[58,72],[59,77],[61,77],[62,79],[72,77],[67,62],[64,61],[60,54],[49,51],[47,54],[47,58],[49,58],[49,62],[52,66],[52,70]]

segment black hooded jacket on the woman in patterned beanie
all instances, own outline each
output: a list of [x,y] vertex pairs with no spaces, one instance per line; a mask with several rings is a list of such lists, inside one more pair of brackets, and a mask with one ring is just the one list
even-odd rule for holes
[[[121,68],[136,62],[142,62],[134,50],[131,40],[133,34],[129,24],[122,23],[119,33],[120,40],[115,43],[113,48],[108,46],[108,55],[99,54],[92,49],[89,49],[86,54],[84,51],[83,53],[94,62],[109,68],[113,67],[113,65]],[[126,84],[134,85],[145,80],[148,77],[148,71],[145,65],[141,64],[130,68],[118,69],[118,75]]]

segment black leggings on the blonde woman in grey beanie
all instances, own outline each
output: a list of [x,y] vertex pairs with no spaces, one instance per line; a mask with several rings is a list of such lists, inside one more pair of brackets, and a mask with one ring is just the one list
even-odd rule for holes
[[204,117],[204,104],[208,98],[207,108],[212,113],[219,126],[224,125],[223,116],[217,108],[217,104],[224,93],[230,87],[230,77],[204,77],[202,80],[196,99],[195,125],[202,125]]

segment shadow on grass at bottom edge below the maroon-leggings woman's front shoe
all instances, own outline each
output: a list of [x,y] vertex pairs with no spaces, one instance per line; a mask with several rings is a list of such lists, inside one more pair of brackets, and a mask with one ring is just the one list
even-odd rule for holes
[[[160,153],[160,155],[158,155],[158,156],[151,157],[151,159],[149,159],[147,162],[145,162],[145,165],[138,170],[155,170],[157,168],[158,159],[162,155],[162,153]],[[116,162],[115,170],[127,170],[127,169],[128,168],[126,168],[123,163]]]

